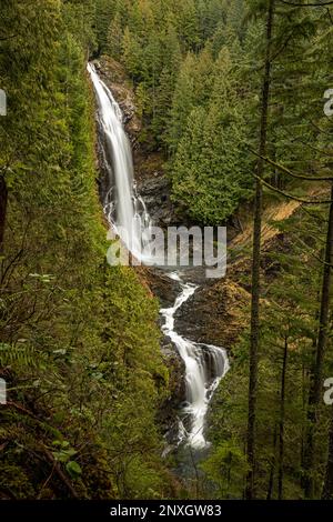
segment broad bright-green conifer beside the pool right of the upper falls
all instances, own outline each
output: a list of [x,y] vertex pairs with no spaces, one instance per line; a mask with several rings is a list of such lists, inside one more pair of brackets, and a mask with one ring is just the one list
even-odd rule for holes
[[245,121],[222,50],[214,64],[208,107],[193,109],[172,164],[173,195],[205,224],[222,223],[249,185]]

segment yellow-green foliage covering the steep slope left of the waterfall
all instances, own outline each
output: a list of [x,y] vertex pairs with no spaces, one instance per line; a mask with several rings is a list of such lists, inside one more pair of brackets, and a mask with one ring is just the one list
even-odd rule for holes
[[[24,12],[32,26],[36,9]],[[158,305],[133,270],[105,261],[94,99],[75,9],[63,4],[54,28],[40,27],[52,62],[26,50],[49,68],[49,80],[31,99],[22,99],[21,84],[13,91],[12,103],[24,101],[30,119],[22,128],[10,116],[0,152],[3,164],[13,142],[20,157],[8,168],[2,264],[1,354],[11,404],[0,410],[1,491],[14,499],[111,499],[127,491],[137,498],[147,483],[161,496],[168,484],[159,478],[155,414],[168,372]],[[19,27],[24,17],[18,13]],[[6,43],[9,53],[13,44]],[[39,68],[24,80],[37,83]],[[123,455],[139,454],[141,482],[133,468],[122,470]]]

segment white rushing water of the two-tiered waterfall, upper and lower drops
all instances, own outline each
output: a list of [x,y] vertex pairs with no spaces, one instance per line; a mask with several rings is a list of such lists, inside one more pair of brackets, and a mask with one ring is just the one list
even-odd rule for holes
[[[98,119],[103,142],[104,162],[108,167],[108,192],[104,197],[104,212],[109,223],[119,231],[132,254],[144,262],[151,220],[142,199],[137,194],[133,178],[133,160],[129,139],[124,132],[122,113],[111,91],[100,80],[92,64],[88,64],[97,101]],[[125,237],[123,237],[125,232]],[[161,310],[165,319],[163,332],[175,344],[185,365],[186,406],[190,429],[180,426],[180,438],[192,448],[206,445],[204,421],[209,403],[219,382],[229,370],[223,349],[190,341],[174,330],[174,314],[190,299],[198,287],[182,283],[176,273],[170,275],[181,283],[182,292],[174,305]]]

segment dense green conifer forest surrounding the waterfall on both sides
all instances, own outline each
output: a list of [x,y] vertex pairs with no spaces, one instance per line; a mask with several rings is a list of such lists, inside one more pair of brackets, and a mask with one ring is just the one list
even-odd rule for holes
[[[1,1],[1,499],[333,499],[332,40],[320,0]],[[88,61],[123,71],[179,224],[232,231],[185,476],[151,275],[105,259]]]

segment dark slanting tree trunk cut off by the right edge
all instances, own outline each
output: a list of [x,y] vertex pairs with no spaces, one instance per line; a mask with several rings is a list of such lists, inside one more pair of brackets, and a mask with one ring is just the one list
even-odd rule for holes
[[[333,184],[331,188],[331,200],[333,201]],[[325,261],[323,268],[321,307],[320,307],[320,324],[316,342],[316,354],[314,368],[311,377],[311,387],[309,394],[309,431],[306,436],[305,459],[304,459],[304,473],[305,473],[305,496],[312,499],[315,494],[315,483],[313,479],[314,472],[314,454],[315,444],[314,435],[317,424],[317,408],[322,396],[322,377],[323,363],[327,344],[327,330],[329,330],[329,314],[330,314],[330,289],[332,282],[333,263],[333,203],[330,205],[329,227],[325,245]]]

